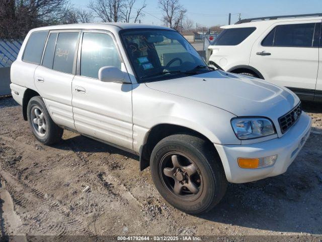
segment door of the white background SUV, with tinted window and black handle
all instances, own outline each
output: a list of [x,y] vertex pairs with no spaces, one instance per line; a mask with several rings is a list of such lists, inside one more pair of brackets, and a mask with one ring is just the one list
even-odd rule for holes
[[313,100],[318,69],[317,21],[276,23],[252,48],[250,66],[274,84]]

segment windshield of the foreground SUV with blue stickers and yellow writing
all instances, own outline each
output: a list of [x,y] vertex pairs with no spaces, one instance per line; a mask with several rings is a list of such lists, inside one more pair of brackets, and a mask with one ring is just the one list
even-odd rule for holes
[[121,39],[138,82],[150,82],[213,71],[192,45],[172,30],[121,31]]

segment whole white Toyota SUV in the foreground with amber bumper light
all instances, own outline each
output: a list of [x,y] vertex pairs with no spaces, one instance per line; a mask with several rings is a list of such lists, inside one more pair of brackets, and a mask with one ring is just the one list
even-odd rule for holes
[[227,182],[285,172],[310,133],[294,93],[209,68],[166,27],[33,29],[11,80],[39,142],[67,129],[137,154],[159,193],[191,214],[213,208]]

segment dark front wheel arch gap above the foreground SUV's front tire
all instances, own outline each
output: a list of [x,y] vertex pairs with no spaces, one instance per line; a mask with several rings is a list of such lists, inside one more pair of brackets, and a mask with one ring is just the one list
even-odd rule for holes
[[[175,134],[189,134],[192,136],[200,137],[207,142],[211,143],[210,139],[205,135],[201,134],[198,131],[193,129],[174,124],[158,124],[152,127],[149,132],[145,135],[143,145],[140,147],[139,155],[140,155],[140,170],[144,170],[150,165],[150,155],[155,147],[155,145],[162,139]],[[213,150],[216,154],[218,154],[215,146],[213,146]],[[218,155],[219,157],[219,155]],[[221,163],[221,161],[220,161]],[[222,164],[221,164],[222,165]]]

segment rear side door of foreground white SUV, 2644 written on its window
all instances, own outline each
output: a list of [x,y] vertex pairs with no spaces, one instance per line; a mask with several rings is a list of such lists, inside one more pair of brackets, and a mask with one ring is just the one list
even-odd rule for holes
[[71,82],[75,74],[79,30],[50,31],[35,86],[57,125],[74,129]]

